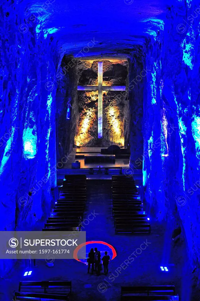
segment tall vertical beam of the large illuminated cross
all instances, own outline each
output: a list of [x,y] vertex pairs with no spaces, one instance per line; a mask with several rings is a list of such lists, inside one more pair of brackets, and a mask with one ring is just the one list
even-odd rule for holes
[[98,138],[103,138],[103,62],[98,62]]

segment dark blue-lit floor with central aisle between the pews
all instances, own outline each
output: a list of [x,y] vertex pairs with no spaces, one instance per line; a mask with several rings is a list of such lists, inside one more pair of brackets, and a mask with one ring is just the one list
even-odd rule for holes
[[[87,180],[87,206],[84,218],[87,219],[87,216],[94,210],[97,213],[96,217],[88,225],[84,225],[83,230],[86,231],[87,241],[104,241],[115,248],[117,256],[109,263],[108,275],[87,274],[87,266],[74,259],[56,259],[52,268],[46,267],[44,260],[36,260],[38,266],[33,268],[32,276],[26,280],[71,279],[71,301],[94,299],[117,301],[120,300],[120,287],[125,284],[175,284],[177,292],[181,293],[184,287],[183,278],[187,275],[184,242],[178,242],[172,246],[172,241],[167,241],[168,236],[167,231],[164,231],[164,225],[154,225],[153,222],[151,235],[115,235],[111,214],[111,180]],[[120,265],[124,266],[123,262],[128,260],[131,253],[140,249],[141,244],[146,241],[149,243],[148,247],[142,250],[141,254],[135,253],[134,261],[118,272]],[[167,255],[165,250],[168,250]],[[168,262],[163,262],[163,254],[169,257]],[[168,273],[161,272],[160,265],[162,264],[169,267]],[[24,270],[24,262],[16,262],[15,268],[6,279],[1,279],[0,292],[3,294],[0,294],[0,299],[2,301],[12,300],[12,293],[17,290],[19,281],[25,280]],[[184,285],[187,290],[190,285],[189,281]],[[180,300],[189,301],[187,297],[182,297]]]

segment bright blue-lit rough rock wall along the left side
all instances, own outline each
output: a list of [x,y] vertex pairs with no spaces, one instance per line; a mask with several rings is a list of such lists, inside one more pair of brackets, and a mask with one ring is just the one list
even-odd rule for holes
[[[20,32],[24,16],[18,9],[6,3],[0,16],[0,230],[7,231],[40,230],[56,185],[56,88],[48,83],[56,45],[35,26]],[[2,274],[11,264],[1,261]]]

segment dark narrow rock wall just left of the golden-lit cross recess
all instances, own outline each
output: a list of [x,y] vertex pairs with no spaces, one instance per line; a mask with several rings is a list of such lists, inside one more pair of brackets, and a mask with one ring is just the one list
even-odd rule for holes
[[[77,98],[78,60],[64,55],[61,67],[57,71],[59,81],[56,93],[56,134],[57,162],[63,167],[74,145],[74,136],[78,128],[79,105]],[[67,115],[69,110],[70,115]],[[68,119],[68,118],[69,119]]]

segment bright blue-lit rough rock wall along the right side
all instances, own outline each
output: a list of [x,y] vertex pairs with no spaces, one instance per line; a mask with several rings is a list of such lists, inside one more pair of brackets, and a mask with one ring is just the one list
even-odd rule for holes
[[197,11],[194,1],[170,7],[164,31],[152,37],[145,51],[147,68],[151,69],[144,97],[145,197],[153,220],[166,220],[170,233],[181,226],[188,250],[182,279],[184,301],[200,299]]

